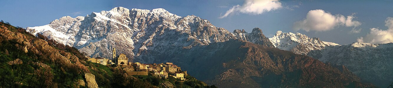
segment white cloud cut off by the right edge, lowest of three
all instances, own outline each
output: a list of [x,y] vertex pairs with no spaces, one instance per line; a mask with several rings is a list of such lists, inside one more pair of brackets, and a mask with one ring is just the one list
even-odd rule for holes
[[385,20],[387,30],[378,28],[371,28],[370,33],[364,37],[359,37],[357,40],[367,43],[391,43],[393,42],[393,18],[388,17]]

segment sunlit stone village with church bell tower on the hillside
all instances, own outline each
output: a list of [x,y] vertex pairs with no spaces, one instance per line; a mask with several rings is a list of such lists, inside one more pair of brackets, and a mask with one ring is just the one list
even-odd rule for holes
[[119,54],[118,56],[116,56],[116,48],[113,48],[112,59],[107,59],[104,57],[88,58],[88,61],[93,63],[99,63],[101,65],[121,66],[123,69],[126,69],[128,75],[148,75],[150,72],[152,75],[156,75],[159,77],[174,77],[180,80],[186,80],[184,76],[187,75],[187,71],[182,71],[179,66],[169,62],[160,64],[143,64],[139,62],[129,62],[125,54]]

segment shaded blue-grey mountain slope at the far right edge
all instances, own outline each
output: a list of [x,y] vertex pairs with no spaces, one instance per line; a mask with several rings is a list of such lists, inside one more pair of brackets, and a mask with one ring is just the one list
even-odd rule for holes
[[355,42],[310,51],[307,56],[325,63],[345,65],[362,81],[385,87],[393,81],[393,43]]

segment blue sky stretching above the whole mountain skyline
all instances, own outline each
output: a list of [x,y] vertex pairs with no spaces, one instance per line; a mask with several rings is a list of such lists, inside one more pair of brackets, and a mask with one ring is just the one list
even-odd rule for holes
[[[247,8],[248,3],[259,3],[259,1],[265,2],[265,0],[2,0],[0,19],[15,26],[34,27],[46,25],[62,16],[86,16],[92,12],[109,11],[119,6],[129,9],[163,8],[179,16],[199,16],[231,32],[235,29],[245,29],[251,32],[253,28],[259,27],[268,37],[272,37],[278,30],[300,32],[309,37],[318,37],[323,41],[340,45],[356,41],[370,43],[393,41],[391,39],[393,33],[389,31],[390,29],[393,31],[393,27],[386,25],[390,22],[388,17],[393,17],[393,1],[391,0],[329,0],[329,2],[325,0],[266,0],[266,2],[274,2],[278,7],[263,9],[266,11],[259,12],[245,11],[245,9],[250,9]],[[235,8],[237,11],[220,18],[236,5],[239,5]],[[257,7],[269,6],[258,4]],[[331,14],[333,18],[337,17],[336,20],[348,20],[348,16],[351,16],[353,17],[350,20],[352,25],[340,21],[334,22],[334,25],[325,25],[326,22],[315,23],[326,20],[306,17],[318,12],[316,9],[321,9],[323,14]],[[312,21],[315,24],[310,24],[313,23]],[[295,25],[295,22],[306,23]],[[356,22],[359,22],[358,25]],[[322,25],[323,29],[318,29],[313,25]],[[294,26],[299,27],[299,30],[295,30]],[[307,28],[311,30],[305,30]],[[372,28],[376,30],[370,32]],[[358,32],[351,32],[353,29]]]

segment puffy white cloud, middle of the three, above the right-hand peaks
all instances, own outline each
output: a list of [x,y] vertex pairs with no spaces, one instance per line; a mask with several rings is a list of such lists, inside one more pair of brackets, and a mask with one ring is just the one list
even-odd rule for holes
[[316,9],[309,11],[304,20],[295,22],[293,29],[295,31],[304,30],[307,32],[329,31],[338,26],[358,27],[362,25],[362,23],[353,20],[353,18],[356,18],[354,14],[345,18],[342,14],[332,15],[322,9]]

